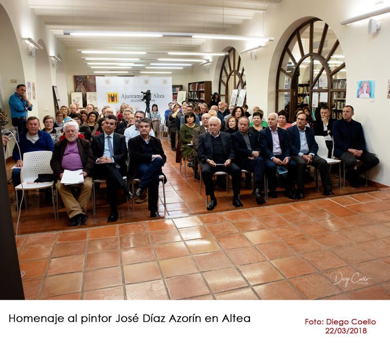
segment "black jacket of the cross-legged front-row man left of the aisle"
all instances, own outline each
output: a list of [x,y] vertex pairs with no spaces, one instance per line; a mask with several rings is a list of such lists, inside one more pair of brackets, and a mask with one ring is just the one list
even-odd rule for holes
[[[161,155],[163,163],[165,164],[167,162],[167,156],[164,154],[161,141],[153,136],[150,136],[149,143],[152,147],[153,155]],[[146,142],[141,135],[129,139],[128,148],[130,156],[128,180],[132,181],[137,173],[139,164],[150,164],[152,162],[152,154],[145,153]],[[164,173],[161,172],[161,175],[164,175]],[[167,182],[166,177],[164,182]]]

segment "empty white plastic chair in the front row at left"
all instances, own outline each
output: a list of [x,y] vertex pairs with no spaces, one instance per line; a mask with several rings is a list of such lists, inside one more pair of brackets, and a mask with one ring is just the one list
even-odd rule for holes
[[53,202],[54,218],[58,219],[58,211],[56,208],[54,181],[45,183],[34,183],[39,174],[52,174],[53,171],[50,167],[52,152],[51,151],[31,151],[24,153],[23,166],[21,168],[21,181],[22,184],[15,187],[16,193],[16,210],[19,213],[19,199],[17,198],[17,190],[39,190],[39,189],[51,189],[51,200]]

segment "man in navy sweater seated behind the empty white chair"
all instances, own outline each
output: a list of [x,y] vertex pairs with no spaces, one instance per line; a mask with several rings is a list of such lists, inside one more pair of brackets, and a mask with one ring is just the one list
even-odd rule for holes
[[[12,170],[12,184],[16,187],[21,183],[20,170],[23,166],[23,155],[31,151],[54,151],[54,143],[51,136],[46,131],[39,130],[39,119],[30,116],[26,123],[27,132],[19,134],[19,149],[15,144],[12,157],[16,161],[15,169]],[[18,199],[22,200],[22,193],[18,193]],[[49,199],[46,199],[47,201]]]

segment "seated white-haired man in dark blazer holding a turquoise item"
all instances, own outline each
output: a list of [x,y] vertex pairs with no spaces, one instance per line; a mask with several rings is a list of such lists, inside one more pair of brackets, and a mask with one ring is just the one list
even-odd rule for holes
[[290,146],[291,138],[286,130],[277,127],[278,114],[268,115],[268,128],[260,131],[260,148],[263,152],[265,171],[267,171],[268,187],[270,196],[277,197],[276,194],[276,169],[277,167],[287,168],[287,186],[285,195],[290,199],[296,199],[293,191],[296,174],[296,163],[291,159]]

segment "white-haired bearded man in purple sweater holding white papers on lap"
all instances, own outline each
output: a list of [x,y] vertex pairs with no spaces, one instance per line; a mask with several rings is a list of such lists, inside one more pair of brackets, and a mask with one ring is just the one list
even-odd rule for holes
[[[69,120],[64,124],[63,129],[65,138],[56,143],[50,166],[69,217],[69,225],[79,226],[88,219],[86,205],[91,198],[92,171],[95,161],[90,142],[78,137],[78,123]],[[75,174],[81,176],[74,176]],[[78,199],[75,199],[72,193],[72,187],[75,186],[80,188]]]

